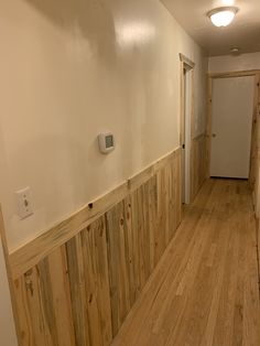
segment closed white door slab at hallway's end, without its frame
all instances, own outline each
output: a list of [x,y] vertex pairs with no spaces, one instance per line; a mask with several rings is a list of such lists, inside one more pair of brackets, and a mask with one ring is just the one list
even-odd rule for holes
[[213,82],[210,176],[249,177],[254,77]]

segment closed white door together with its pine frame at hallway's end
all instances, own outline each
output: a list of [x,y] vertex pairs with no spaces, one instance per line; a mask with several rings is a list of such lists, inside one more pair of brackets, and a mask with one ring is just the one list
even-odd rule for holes
[[208,176],[247,179],[253,187],[259,71],[209,75]]

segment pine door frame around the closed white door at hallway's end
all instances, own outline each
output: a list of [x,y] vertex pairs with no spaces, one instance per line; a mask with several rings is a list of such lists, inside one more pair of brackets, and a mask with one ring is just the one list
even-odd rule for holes
[[207,119],[206,119],[206,167],[207,177],[210,177],[210,158],[212,158],[212,118],[213,118],[213,82],[218,78],[234,78],[234,77],[254,77],[254,95],[253,95],[253,115],[252,115],[252,130],[251,130],[251,150],[250,150],[250,169],[249,169],[249,183],[254,188],[257,180],[257,165],[258,165],[258,104],[259,104],[259,85],[260,85],[260,69],[249,71],[235,71],[225,73],[208,74],[208,97],[207,97]]

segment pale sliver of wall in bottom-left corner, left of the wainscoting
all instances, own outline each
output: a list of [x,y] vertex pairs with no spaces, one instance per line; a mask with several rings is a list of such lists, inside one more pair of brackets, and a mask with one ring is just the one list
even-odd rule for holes
[[18,345],[1,239],[0,239],[0,345],[2,346]]

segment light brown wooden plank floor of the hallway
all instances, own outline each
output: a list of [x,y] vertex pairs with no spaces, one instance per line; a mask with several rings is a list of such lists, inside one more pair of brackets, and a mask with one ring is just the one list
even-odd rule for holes
[[112,345],[259,346],[256,242],[248,183],[206,182]]

